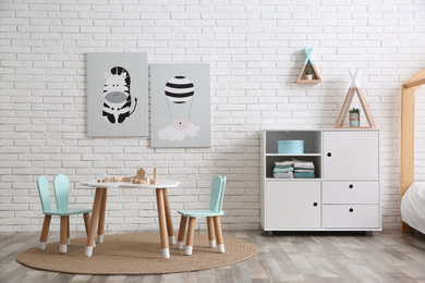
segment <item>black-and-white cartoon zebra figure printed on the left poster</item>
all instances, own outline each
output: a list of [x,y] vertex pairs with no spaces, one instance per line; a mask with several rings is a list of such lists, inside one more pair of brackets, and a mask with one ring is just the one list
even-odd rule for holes
[[130,74],[122,66],[113,66],[105,73],[104,109],[102,116],[111,124],[122,123],[137,107],[137,98],[134,98],[134,108],[131,110],[132,97],[130,95]]

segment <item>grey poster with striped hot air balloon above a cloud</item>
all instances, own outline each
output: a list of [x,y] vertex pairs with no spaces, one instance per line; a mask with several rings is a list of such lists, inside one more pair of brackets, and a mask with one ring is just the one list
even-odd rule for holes
[[210,146],[209,64],[151,64],[151,146]]

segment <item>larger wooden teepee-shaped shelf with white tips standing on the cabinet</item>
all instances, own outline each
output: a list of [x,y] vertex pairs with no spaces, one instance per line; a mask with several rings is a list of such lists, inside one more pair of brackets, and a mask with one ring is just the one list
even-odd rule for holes
[[341,112],[339,113],[337,124],[335,125],[335,127],[337,127],[337,128],[343,127],[342,124],[344,123],[347,113],[349,112],[350,104],[353,101],[354,94],[357,94],[359,100],[362,103],[362,108],[363,108],[363,111],[366,115],[367,122],[369,123],[369,126],[360,126],[360,127],[376,128],[376,124],[375,124],[374,118],[372,116],[369,106],[367,104],[366,97],[363,93],[363,89],[360,87],[360,84],[357,82],[355,82],[357,78],[360,79],[361,72],[359,69],[356,69],[355,72],[352,70],[349,70],[349,73],[350,73],[350,77],[351,77],[350,88],[349,88],[349,91],[347,94],[344,103],[342,104],[342,109],[341,109]]

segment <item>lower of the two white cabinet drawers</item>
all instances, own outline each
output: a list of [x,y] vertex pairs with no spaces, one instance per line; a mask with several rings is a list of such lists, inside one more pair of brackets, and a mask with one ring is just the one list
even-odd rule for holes
[[379,205],[325,205],[324,227],[378,229]]

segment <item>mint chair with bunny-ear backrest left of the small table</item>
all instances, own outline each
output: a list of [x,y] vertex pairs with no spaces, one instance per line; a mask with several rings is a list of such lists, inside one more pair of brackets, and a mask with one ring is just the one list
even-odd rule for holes
[[66,246],[70,245],[70,216],[81,214],[84,216],[84,224],[86,226],[86,233],[90,223],[92,209],[83,208],[69,208],[68,197],[70,189],[70,182],[65,175],[57,175],[53,180],[56,206],[57,209],[50,207],[50,194],[49,183],[46,176],[39,176],[37,180],[38,193],[40,195],[42,214],[45,214],[45,221],[42,223],[40,243],[38,248],[46,249],[47,235],[49,234],[49,226],[51,216],[60,216],[60,247],[59,253],[66,254]]

